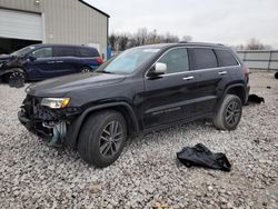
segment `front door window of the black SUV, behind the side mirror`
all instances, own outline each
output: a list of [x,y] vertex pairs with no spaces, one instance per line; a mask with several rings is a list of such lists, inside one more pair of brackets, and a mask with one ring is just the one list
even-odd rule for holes
[[158,60],[167,64],[167,73],[182,72],[189,70],[187,49],[173,49]]

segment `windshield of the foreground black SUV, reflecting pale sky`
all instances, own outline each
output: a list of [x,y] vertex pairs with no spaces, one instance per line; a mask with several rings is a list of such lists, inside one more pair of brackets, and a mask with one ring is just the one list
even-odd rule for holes
[[147,63],[160,49],[133,48],[126,50],[117,58],[101,66],[98,71],[107,73],[132,73],[136,69]]

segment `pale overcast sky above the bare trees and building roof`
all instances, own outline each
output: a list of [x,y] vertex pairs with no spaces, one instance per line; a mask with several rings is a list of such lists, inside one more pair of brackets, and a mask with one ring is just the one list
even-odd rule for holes
[[87,0],[110,14],[109,32],[138,28],[191,36],[193,41],[246,43],[257,38],[278,49],[278,0]]

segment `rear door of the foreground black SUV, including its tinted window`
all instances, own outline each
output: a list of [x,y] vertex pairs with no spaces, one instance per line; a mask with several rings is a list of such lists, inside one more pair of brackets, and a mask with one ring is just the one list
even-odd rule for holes
[[220,74],[218,61],[212,48],[191,48],[193,71],[196,72],[196,97],[192,115],[195,117],[212,113],[217,104],[217,93],[220,82],[228,74]]

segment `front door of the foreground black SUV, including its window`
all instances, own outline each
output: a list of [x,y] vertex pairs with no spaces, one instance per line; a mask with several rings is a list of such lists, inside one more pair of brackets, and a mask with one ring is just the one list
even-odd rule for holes
[[196,99],[196,72],[189,71],[187,48],[170,49],[158,62],[167,64],[167,74],[145,78],[140,108],[145,129],[190,118]]

